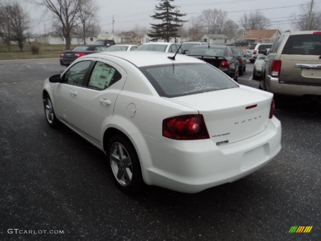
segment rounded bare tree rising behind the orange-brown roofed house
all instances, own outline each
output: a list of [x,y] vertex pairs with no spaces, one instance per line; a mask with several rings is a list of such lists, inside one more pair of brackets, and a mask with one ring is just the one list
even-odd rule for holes
[[270,20],[267,19],[260,10],[256,10],[249,14],[244,13],[240,17],[239,22],[241,27],[245,30],[266,29],[270,24]]

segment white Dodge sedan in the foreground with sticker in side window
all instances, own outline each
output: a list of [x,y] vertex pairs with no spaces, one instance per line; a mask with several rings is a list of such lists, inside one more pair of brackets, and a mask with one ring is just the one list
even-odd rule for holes
[[95,53],[45,80],[48,124],[104,151],[124,192],[144,184],[200,192],[256,171],[281,149],[273,94],[173,55]]

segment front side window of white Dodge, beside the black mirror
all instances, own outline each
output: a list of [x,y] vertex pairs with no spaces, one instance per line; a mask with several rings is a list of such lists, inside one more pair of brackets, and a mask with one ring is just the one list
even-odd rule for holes
[[81,61],[74,64],[66,71],[64,75],[64,82],[70,85],[85,86],[85,76],[90,64],[91,60]]

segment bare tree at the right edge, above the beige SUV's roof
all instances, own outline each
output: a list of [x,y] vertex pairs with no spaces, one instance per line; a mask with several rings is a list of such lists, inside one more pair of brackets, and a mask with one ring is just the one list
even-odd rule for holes
[[301,4],[300,14],[293,14],[294,27],[299,31],[321,29],[321,11],[316,9],[313,1],[307,4]]

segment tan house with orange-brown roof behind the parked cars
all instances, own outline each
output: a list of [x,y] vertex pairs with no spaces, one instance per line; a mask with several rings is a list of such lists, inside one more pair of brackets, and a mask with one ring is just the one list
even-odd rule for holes
[[247,41],[248,43],[274,43],[281,35],[278,29],[244,30],[235,40]]

